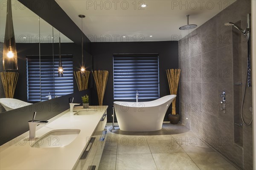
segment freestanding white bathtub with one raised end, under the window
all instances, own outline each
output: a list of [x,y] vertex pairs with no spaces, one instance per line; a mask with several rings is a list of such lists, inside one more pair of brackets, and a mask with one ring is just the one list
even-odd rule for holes
[[161,130],[167,109],[176,95],[168,95],[150,102],[114,102],[120,130],[149,132]]

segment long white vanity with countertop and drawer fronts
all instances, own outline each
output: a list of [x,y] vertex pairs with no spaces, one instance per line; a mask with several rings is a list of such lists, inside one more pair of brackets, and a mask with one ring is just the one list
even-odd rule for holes
[[[46,125],[39,125],[34,139],[29,139],[27,131],[1,145],[0,170],[97,170],[105,146],[108,106],[90,106],[88,109],[77,106],[74,109],[76,112],[68,109],[47,120]],[[64,133],[60,135],[62,138],[58,138],[63,143],[72,138],[73,141],[67,145],[33,147],[36,140],[52,131],[70,130],[79,131],[76,138],[69,138]]]

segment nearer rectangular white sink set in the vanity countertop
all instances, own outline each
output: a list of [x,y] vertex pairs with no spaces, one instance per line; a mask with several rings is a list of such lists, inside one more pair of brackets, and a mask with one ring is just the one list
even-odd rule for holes
[[79,129],[52,130],[37,139],[32,147],[64,147],[73,142],[79,133]]

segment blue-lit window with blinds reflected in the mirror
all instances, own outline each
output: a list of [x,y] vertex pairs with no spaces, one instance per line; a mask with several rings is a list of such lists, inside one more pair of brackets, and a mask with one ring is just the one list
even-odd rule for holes
[[[58,57],[27,56],[27,92],[29,102],[47,100],[46,96],[64,96],[73,93],[73,57],[61,55],[64,77],[58,77]],[[40,64],[41,62],[41,70]],[[53,69],[54,68],[54,69]]]

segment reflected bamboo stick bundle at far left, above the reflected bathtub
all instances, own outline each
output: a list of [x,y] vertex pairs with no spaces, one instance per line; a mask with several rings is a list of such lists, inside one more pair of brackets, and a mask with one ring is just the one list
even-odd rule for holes
[[13,98],[19,73],[8,71],[8,72],[0,72],[0,75],[1,75],[3,90],[6,98]]

